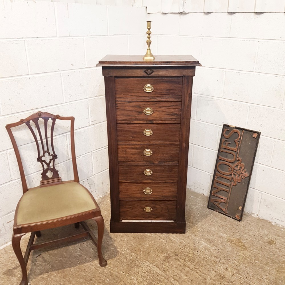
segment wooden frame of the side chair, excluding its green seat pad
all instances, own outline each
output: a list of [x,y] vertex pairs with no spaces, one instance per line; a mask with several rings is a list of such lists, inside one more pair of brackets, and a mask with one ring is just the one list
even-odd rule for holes
[[[44,130],[42,132],[40,130],[39,119],[42,119],[43,124],[44,124],[43,126]],[[50,119],[52,120],[52,125],[51,125],[51,132],[49,134],[48,133],[48,121]],[[70,127],[71,127],[70,143],[71,143],[71,156],[72,156],[72,166],[73,166],[73,174],[74,174],[74,180],[72,181],[62,181],[58,175],[58,170],[56,170],[55,160],[57,158],[57,155],[54,151],[54,145],[53,145],[53,132],[54,132],[56,120],[70,121]],[[38,138],[36,136],[36,133],[33,127],[30,124],[31,121],[34,123],[36,127],[36,131],[39,136],[39,141],[38,141]],[[40,162],[40,164],[42,165],[42,180],[40,181],[40,185],[38,186],[39,194],[40,194],[41,187],[46,187],[46,186],[56,187],[58,184],[68,184],[70,182],[79,183],[78,170],[77,170],[77,164],[76,164],[75,143],[74,143],[74,117],[61,117],[60,115],[52,115],[50,113],[39,111],[27,117],[26,119],[21,119],[19,122],[6,125],[6,129],[11,139],[11,142],[12,142],[15,154],[16,154],[19,170],[20,170],[22,187],[23,187],[23,196],[27,195],[26,192],[29,189],[27,188],[27,182],[26,182],[23,164],[21,161],[21,156],[19,154],[18,146],[17,146],[17,143],[15,141],[15,138],[14,138],[14,135],[11,129],[14,127],[20,126],[24,123],[30,129],[32,136],[34,137],[36,147],[37,147],[37,159],[36,160]],[[89,233],[90,230],[89,230],[87,234],[80,233],[80,234],[68,236],[62,239],[56,239],[54,241],[46,241],[46,242],[40,242],[37,244],[33,244],[35,235],[37,235],[37,237],[40,237],[41,235],[40,231],[44,229],[60,227],[63,225],[77,224],[78,222],[84,221],[86,219],[95,219],[95,221],[98,224],[98,239],[101,240],[101,242],[98,242],[98,245],[97,245],[99,264],[101,266],[105,266],[107,264],[106,260],[102,257],[102,253],[101,253],[101,243],[102,243],[103,231],[104,231],[104,229],[102,229],[102,225],[104,227],[104,220],[103,220],[103,217],[101,216],[101,210],[97,202],[95,201],[94,197],[91,195],[91,193],[86,188],[85,190],[87,191],[90,198],[94,202],[94,209],[81,212],[81,213],[76,213],[70,216],[58,217],[52,220],[29,223],[25,225],[17,224],[18,209],[21,203],[21,199],[20,199],[20,201],[17,204],[16,210],[15,210],[13,236],[12,236],[13,250],[15,252],[15,255],[18,258],[18,261],[22,269],[22,280],[21,280],[20,285],[28,284],[26,266],[27,266],[27,262],[28,262],[28,258],[30,256],[31,250],[42,248],[42,247],[45,247],[45,246],[48,246],[54,243],[59,243],[62,241],[72,241],[74,239],[85,238],[88,235],[90,236],[90,233]],[[25,257],[23,257],[22,252],[21,252],[21,247],[20,247],[20,241],[21,241],[21,237],[28,232],[32,232],[32,234],[28,242]]]

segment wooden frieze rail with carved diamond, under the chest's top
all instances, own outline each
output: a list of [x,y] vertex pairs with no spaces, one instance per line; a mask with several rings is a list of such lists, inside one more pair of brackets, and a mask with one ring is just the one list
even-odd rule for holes
[[149,74],[148,67],[145,66],[126,66],[122,67],[104,67],[103,76],[117,76],[117,77],[175,77],[175,76],[195,76],[195,66],[151,66],[150,69],[154,71]]

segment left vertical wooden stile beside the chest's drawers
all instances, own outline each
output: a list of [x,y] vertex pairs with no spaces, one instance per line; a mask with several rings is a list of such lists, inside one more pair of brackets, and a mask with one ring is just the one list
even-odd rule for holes
[[108,130],[109,177],[111,195],[111,219],[119,221],[119,178],[118,178],[118,150],[117,124],[115,103],[115,78],[105,77],[105,98]]

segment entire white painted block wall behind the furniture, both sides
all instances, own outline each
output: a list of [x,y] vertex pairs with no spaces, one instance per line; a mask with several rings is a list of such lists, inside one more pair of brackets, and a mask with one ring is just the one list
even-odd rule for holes
[[[95,65],[106,54],[143,55],[147,19],[153,21],[154,54],[192,54],[203,65],[194,78],[187,187],[209,194],[223,123],[261,131],[245,209],[285,225],[284,9],[227,13],[253,12],[253,3],[205,0],[207,12],[218,13],[202,13],[203,0],[184,0],[164,1],[162,11],[172,14],[160,14],[162,2],[148,1],[148,12],[156,12],[148,15],[146,1],[59,2],[73,4],[0,3],[0,246],[11,238],[22,191],[7,123],[38,110],[73,115],[80,179],[94,196],[109,191],[104,80]],[[68,131],[60,122],[55,133],[64,179],[73,178]],[[29,157],[32,138],[16,132],[28,155],[28,185],[36,186],[40,168]]]

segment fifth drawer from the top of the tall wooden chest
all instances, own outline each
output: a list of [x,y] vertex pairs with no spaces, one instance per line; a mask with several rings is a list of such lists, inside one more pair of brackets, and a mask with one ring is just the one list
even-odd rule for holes
[[[119,182],[177,182],[178,165],[119,164]],[[153,173],[145,175],[144,170]]]

